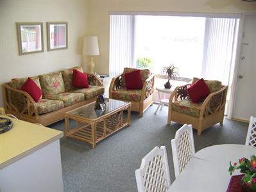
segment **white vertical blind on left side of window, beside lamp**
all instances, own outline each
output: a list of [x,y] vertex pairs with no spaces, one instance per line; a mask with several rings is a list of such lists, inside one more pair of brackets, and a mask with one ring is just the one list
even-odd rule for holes
[[110,15],[110,67],[114,77],[133,65],[133,15]]

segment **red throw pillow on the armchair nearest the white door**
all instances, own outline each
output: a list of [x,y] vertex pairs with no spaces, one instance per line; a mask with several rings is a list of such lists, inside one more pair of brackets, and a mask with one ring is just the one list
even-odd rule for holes
[[210,90],[203,78],[192,84],[191,87],[186,90],[186,92],[189,94],[192,102],[199,102],[201,99],[210,94]]

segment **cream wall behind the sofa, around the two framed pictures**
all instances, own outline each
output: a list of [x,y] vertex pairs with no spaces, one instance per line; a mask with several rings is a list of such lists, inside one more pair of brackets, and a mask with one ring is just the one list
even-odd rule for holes
[[[0,1],[0,84],[81,65],[87,29],[86,1]],[[68,23],[68,49],[47,51],[46,22]],[[19,56],[15,22],[43,22],[44,52]],[[3,106],[2,89],[0,106]]]

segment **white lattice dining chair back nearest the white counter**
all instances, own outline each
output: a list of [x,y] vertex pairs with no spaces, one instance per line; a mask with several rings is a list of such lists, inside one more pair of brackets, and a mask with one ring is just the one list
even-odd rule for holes
[[142,191],[164,192],[171,186],[166,147],[155,147],[141,161],[135,171],[137,188]]

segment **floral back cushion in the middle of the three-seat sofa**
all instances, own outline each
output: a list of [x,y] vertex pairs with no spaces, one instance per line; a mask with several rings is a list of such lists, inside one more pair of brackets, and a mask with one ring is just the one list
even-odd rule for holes
[[51,99],[51,95],[65,92],[64,81],[60,72],[44,74],[39,77],[43,99]]

